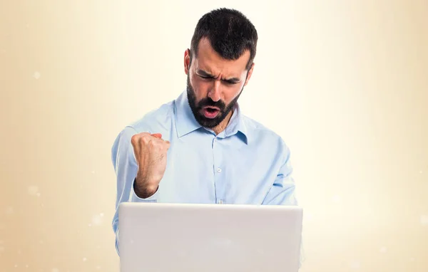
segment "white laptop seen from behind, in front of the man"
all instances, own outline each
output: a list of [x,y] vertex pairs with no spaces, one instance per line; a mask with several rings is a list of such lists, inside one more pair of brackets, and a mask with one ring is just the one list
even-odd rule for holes
[[121,272],[297,272],[302,208],[123,202]]

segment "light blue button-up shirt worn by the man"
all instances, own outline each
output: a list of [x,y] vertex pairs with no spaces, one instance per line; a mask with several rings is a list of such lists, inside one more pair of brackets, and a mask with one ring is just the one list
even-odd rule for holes
[[[170,141],[165,174],[158,191],[137,197],[133,182],[138,166],[131,137],[161,133]],[[201,127],[188,105],[186,91],[125,127],[112,152],[116,172],[113,231],[118,251],[118,206],[121,202],[297,205],[290,150],[282,138],[245,117],[239,105],[219,135]]]

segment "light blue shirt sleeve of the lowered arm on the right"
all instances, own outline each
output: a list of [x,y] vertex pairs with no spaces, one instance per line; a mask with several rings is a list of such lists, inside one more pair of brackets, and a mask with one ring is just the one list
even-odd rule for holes
[[[263,200],[264,205],[290,205],[298,206],[299,202],[296,196],[295,180],[292,177],[292,165],[290,162],[290,149],[282,142],[282,164],[275,181],[272,184],[267,196]],[[303,249],[303,237],[300,243],[299,268],[305,261],[305,252]]]

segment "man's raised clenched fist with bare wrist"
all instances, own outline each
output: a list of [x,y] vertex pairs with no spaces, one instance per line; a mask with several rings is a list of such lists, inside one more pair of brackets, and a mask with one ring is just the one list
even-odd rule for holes
[[159,133],[138,133],[131,138],[133,152],[138,164],[134,191],[138,197],[151,197],[158,190],[166,169],[166,154],[170,142]]

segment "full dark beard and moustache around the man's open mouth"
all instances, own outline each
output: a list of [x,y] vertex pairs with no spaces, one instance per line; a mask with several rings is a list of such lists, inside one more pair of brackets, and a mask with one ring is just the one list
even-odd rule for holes
[[[213,128],[220,125],[220,122],[225,120],[225,117],[228,116],[231,110],[235,108],[236,103],[238,102],[238,98],[240,94],[243,92],[242,88],[240,93],[236,98],[234,98],[228,105],[226,105],[222,100],[218,100],[217,102],[213,101],[211,98],[203,98],[199,101],[196,101],[195,90],[193,90],[192,85],[190,85],[190,76],[187,78],[187,95],[188,95],[188,103],[190,105],[190,109],[192,110],[193,115],[195,116],[196,121],[200,125],[206,128]],[[217,116],[214,118],[208,118],[203,115],[203,107],[211,106],[217,107],[220,109]]]

